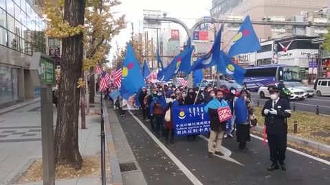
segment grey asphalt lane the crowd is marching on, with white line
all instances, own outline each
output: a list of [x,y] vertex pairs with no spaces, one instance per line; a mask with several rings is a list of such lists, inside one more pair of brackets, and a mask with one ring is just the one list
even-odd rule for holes
[[210,159],[207,138],[175,138],[175,144],[165,145],[140,119],[126,113],[120,124],[148,184],[330,184],[329,161],[294,149],[287,151],[287,171],[269,172],[269,149],[256,136],[248,153],[238,151],[234,138],[225,138],[225,157]]

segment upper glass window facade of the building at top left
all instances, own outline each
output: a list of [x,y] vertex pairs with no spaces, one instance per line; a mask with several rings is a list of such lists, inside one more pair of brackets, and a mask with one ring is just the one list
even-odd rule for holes
[[45,23],[26,0],[0,0],[0,45],[45,53]]

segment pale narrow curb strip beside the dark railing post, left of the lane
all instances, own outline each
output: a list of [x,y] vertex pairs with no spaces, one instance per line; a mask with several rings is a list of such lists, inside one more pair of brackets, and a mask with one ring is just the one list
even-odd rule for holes
[[117,153],[115,152],[115,144],[113,143],[113,136],[111,134],[110,129],[110,120],[109,113],[107,108],[107,103],[103,103],[103,114],[104,114],[104,124],[105,124],[105,132],[107,138],[108,152],[110,158],[110,168],[111,168],[111,178],[110,183],[120,185],[122,184],[122,173],[120,172],[119,160],[117,157]]

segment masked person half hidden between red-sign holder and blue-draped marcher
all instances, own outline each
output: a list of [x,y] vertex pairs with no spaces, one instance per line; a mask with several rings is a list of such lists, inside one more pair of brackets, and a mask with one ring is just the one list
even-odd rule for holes
[[[227,124],[227,130],[225,131],[225,134],[223,134],[223,138],[232,138],[232,132],[234,132],[235,129],[235,115],[234,115],[234,102],[236,101],[237,97],[236,97],[236,88],[234,87],[230,87],[229,88],[230,93],[228,95],[225,96],[225,101],[227,101],[230,110],[232,111],[232,118],[228,120],[228,124]],[[229,123],[230,121],[230,123]]]

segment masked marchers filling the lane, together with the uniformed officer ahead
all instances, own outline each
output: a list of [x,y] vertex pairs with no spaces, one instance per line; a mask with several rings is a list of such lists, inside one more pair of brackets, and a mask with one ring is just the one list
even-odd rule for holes
[[[137,101],[140,103],[143,119],[150,123],[155,136],[158,138],[163,136],[165,138],[166,144],[175,143],[172,108],[174,106],[203,104],[205,105],[204,111],[210,116],[208,157],[214,158],[214,154],[224,156],[221,152],[222,140],[223,138],[232,138],[235,129],[239,149],[243,153],[247,153],[247,142],[250,141],[250,128],[257,124],[254,116],[254,103],[248,90],[236,90],[232,87],[230,88],[230,93],[224,94],[223,86],[220,86],[219,89],[207,86],[203,92],[199,92],[198,89],[187,89],[184,86],[153,85],[149,89],[143,87],[140,94],[137,94]],[[109,92],[113,89],[114,87]],[[265,125],[268,127],[270,159],[273,162],[268,170],[279,169],[278,162],[281,165],[281,169],[285,170],[286,118],[291,115],[291,110],[287,101],[279,98],[279,90],[270,89],[270,93],[272,99],[265,103],[262,112],[263,116],[265,116]],[[120,116],[123,117],[125,110],[122,109],[122,97],[118,97],[113,104],[119,108]],[[219,121],[217,110],[225,107],[230,108],[232,116],[231,119],[221,122]],[[274,124],[274,121],[276,124]],[[194,141],[196,137],[196,134],[188,135],[187,140]]]

